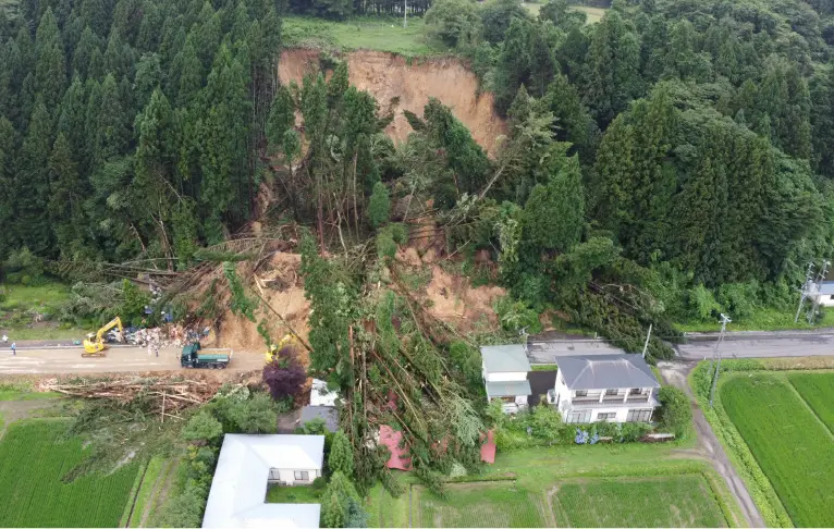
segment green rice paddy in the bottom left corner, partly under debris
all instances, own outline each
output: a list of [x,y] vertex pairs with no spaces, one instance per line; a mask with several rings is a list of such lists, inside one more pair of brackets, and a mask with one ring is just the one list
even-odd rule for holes
[[79,439],[62,439],[66,422],[12,423],[0,441],[0,527],[115,527],[137,465],[108,476],[62,478],[83,458]]

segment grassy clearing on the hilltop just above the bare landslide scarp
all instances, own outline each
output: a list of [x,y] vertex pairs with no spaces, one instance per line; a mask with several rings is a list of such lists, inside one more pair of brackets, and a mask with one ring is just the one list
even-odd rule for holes
[[330,22],[285,16],[282,38],[286,47],[335,48],[345,51],[367,49],[405,57],[446,51],[442,45],[427,41],[420,17],[408,19],[408,27],[403,28],[402,19],[360,17]]

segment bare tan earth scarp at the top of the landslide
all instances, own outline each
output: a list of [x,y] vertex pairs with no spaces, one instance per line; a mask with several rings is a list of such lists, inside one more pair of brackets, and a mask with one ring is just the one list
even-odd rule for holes
[[[381,109],[393,106],[394,121],[385,132],[394,142],[412,133],[404,110],[422,115],[429,97],[452,108],[478,144],[492,152],[495,139],[505,134],[504,121],[492,110],[492,95],[478,96],[478,78],[459,61],[449,58],[408,62],[381,51],[354,51],[344,54],[351,84],[372,94]],[[281,53],[278,75],[282,84],[301,83],[304,74],[319,70],[319,51],[291,49]]]

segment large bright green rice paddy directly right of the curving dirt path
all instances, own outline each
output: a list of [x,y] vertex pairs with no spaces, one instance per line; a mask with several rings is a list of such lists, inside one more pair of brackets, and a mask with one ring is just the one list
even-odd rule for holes
[[797,527],[834,527],[834,438],[784,378],[728,379],[721,401]]

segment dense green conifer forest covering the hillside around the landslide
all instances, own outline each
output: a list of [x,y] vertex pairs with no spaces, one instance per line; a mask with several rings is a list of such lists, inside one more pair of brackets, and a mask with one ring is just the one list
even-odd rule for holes
[[635,350],[650,322],[673,337],[673,321],[719,310],[789,310],[807,262],[831,257],[832,2],[615,1],[598,24],[563,0],[538,17],[513,0],[414,3],[507,119],[489,157],[437,100],[394,146],[396,109],[349,86],[338,58],[322,61],[330,81],[279,86],[283,13],[397,9],[0,7],[7,272],[184,269],[253,220],[265,188],[280,197],[270,216],[311,226],[320,248],[371,239],[384,257],[404,241],[394,206],[432,199],[450,253],[499,263],[513,327],[552,308]]

